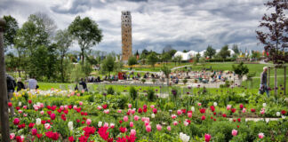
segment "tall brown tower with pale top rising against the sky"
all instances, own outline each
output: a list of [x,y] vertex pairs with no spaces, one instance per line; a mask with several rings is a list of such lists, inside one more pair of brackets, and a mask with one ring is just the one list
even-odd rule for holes
[[124,11],[121,15],[122,60],[127,62],[132,56],[132,21],[131,12]]

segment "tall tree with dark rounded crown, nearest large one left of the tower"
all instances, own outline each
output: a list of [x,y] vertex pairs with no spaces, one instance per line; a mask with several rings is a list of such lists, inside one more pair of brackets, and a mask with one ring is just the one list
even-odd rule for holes
[[100,43],[103,37],[102,31],[98,28],[98,24],[94,20],[88,17],[81,19],[80,16],[77,16],[69,25],[68,31],[78,41],[83,59],[82,65],[84,65],[85,51],[89,51],[96,43]]

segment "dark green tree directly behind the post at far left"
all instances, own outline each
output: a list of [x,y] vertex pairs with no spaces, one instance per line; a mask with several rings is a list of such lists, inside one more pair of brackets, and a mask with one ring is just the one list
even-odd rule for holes
[[7,50],[7,46],[12,46],[15,44],[14,38],[17,34],[17,30],[19,29],[18,22],[12,16],[4,16],[3,19],[6,21],[6,25],[4,27],[4,51]]

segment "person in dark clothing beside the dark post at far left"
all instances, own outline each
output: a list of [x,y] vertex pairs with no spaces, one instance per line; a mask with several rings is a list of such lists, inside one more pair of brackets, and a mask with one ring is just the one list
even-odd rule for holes
[[[8,92],[8,102],[11,102],[13,97],[13,92],[15,91],[16,82],[11,75],[6,74],[7,92]],[[14,107],[9,106],[10,113],[14,115]]]

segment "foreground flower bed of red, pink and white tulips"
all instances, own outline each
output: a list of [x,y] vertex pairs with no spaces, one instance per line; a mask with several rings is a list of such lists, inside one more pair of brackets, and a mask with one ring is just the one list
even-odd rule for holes
[[[128,90],[128,89],[127,89]],[[250,93],[103,95],[20,91],[10,117],[14,141],[285,141],[284,98]],[[274,117],[276,121],[245,121]]]

